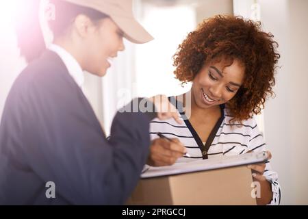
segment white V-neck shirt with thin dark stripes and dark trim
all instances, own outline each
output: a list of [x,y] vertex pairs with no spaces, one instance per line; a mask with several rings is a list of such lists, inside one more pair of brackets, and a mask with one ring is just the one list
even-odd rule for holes
[[[248,151],[266,151],[266,143],[262,133],[257,127],[255,118],[244,120],[243,125],[230,123],[233,118],[229,115],[224,105],[220,106],[221,118],[211,131],[207,142],[202,142],[190,121],[185,118],[180,102],[177,102],[177,112],[181,115],[183,125],[179,125],[173,119],[159,120],[155,118],[151,121],[150,134],[151,140],[159,138],[157,132],[164,134],[168,138],[179,138],[185,145],[190,157],[181,157],[177,162],[191,162],[197,159],[211,159],[221,156],[232,156],[247,153]],[[277,173],[266,163],[264,177],[272,185],[272,201],[270,205],[280,203],[280,185]]]

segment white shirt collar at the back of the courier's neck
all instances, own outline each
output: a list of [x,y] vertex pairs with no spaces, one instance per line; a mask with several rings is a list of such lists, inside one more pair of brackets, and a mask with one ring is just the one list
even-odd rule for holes
[[75,57],[57,44],[51,44],[48,49],[60,56],[68,70],[68,73],[71,77],[73,77],[74,81],[82,90],[82,86],[84,85],[84,71]]

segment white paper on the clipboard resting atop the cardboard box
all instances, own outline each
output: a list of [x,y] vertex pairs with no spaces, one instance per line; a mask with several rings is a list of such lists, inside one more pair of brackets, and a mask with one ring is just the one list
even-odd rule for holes
[[141,178],[146,179],[151,177],[163,177],[167,175],[179,175],[188,172],[228,168],[231,166],[257,164],[261,162],[266,162],[267,159],[268,154],[266,152],[245,153],[243,155],[202,159],[195,162],[176,163],[172,166],[149,167],[144,170],[141,175]]

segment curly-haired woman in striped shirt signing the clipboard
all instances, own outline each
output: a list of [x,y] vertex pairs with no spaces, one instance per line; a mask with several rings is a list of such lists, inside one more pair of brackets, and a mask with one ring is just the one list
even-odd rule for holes
[[[192,82],[190,92],[171,97],[185,125],[152,120],[153,144],[147,164],[211,159],[266,151],[266,143],[253,114],[259,114],[272,96],[274,72],[280,55],[272,34],[261,23],[235,16],[215,16],[201,23],[179,45],[174,56],[175,75]],[[155,144],[157,132],[180,141],[190,157]],[[271,157],[268,152],[269,157]],[[248,166],[261,184],[258,205],[278,205],[280,188],[270,163]]]

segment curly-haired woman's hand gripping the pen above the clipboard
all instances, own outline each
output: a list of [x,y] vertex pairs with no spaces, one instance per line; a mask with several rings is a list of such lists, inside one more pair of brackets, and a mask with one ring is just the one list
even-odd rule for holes
[[177,138],[171,140],[164,138],[153,140],[146,164],[150,166],[170,166],[175,164],[179,157],[183,157],[186,153],[183,144]]

